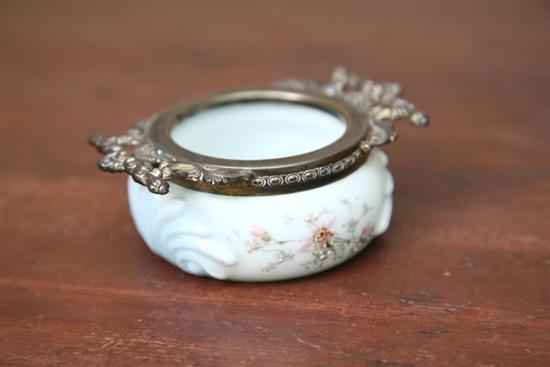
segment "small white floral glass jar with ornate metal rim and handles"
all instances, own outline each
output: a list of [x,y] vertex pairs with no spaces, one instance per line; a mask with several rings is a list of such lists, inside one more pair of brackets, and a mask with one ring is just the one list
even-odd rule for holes
[[182,270],[237,281],[306,276],[351,258],[390,223],[393,180],[377,146],[426,116],[337,68],[330,81],[191,98],[125,134],[93,134],[100,169],[126,172],[137,229]]

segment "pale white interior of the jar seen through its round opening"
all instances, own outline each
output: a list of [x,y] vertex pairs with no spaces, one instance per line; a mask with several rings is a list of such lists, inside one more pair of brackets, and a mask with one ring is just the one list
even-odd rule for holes
[[290,157],[340,138],[344,121],[299,103],[251,101],[213,106],[181,118],[171,137],[194,153],[238,160]]

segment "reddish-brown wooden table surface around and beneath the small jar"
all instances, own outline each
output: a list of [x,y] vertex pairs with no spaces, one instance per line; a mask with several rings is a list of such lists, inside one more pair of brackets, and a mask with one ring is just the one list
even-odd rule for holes
[[[389,231],[239,284],[146,249],[89,132],[188,96],[398,80]],[[549,366],[548,3],[0,3],[0,365]]]

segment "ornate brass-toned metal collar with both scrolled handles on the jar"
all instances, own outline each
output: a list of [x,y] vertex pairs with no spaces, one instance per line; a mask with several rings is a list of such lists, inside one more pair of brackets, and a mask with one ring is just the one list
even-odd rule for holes
[[[372,148],[396,140],[397,120],[428,125],[427,116],[400,94],[396,83],[375,83],[337,68],[324,85],[289,79],[268,88],[192,98],[137,123],[124,134],[92,134],[90,143],[103,154],[98,161],[101,170],[126,172],[155,194],[168,193],[169,182],[227,195],[289,193],[321,186],[353,172]],[[219,105],[251,101],[317,107],[338,116],[346,130],[338,140],[313,152],[265,160],[201,155],[176,144],[171,137],[172,128],[186,116]]]

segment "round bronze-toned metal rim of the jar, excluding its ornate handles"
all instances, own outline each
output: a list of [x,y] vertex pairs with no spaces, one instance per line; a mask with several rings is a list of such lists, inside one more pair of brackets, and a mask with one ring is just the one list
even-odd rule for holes
[[[345,131],[336,141],[320,149],[290,157],[260,160],[223,159],[202,155],[185,149],[172,138],[173,127],[178,123],[185,123],[182,120],[191,114],[221,105],[256,101],[296,103],[324,110],[341,119],[345,124]],[[350,173],[351,168],[362,161],[357,154],[353,156],[353,162],[343,163],[345,167],[342,169],[331,167],[327,172],[327,169],[321,171],[321,168],[356,151],[366,131],[367,124],[354,115],[348,106],[334,98],[308,92],[256,88],[220,92],[175,104],[153,118],[150,138],[158,149],[173,157],[176,162],[199,166],[211,174],[219,173],[233,178],[231,184],[217,186],[187,177],[176,177],[175,182],[204,191],[242,195],[298,191],[305,187],[322,185],[329,179]],[[262,180],[265,180],[265,184],[261,183]]]

